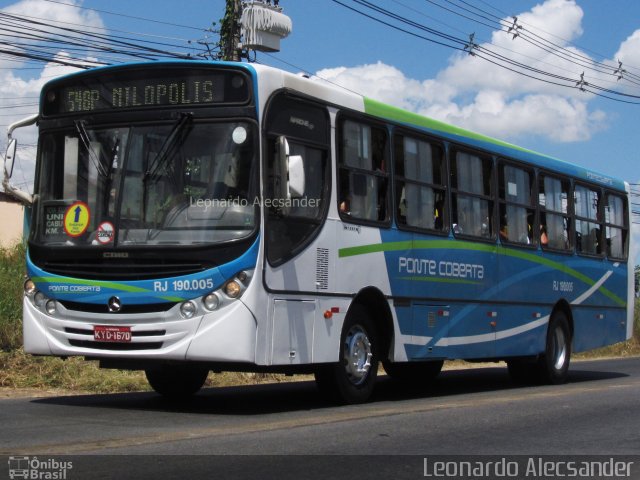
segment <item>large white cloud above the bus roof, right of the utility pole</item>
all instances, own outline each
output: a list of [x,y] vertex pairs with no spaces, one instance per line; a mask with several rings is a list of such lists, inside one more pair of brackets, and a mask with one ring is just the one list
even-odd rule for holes
[[[586,57],[567,45],[581,35],[582,17],[574,0],[547,0],[518,15],[518,22],[547,32],[554,42]],[[482,47],[576,81],[584,71],[505,32],[494,32],[492,43]],[[593,98],[589,93],[527,78],[467,54],[454,55],[435,78],[425,80],[407,78],[381,62],[326,69],[318,75],[383,102],[511,141],[525,135],[555,142],[585,141],[606,129],[609,120],[605,112],[589,108]],[[594,82],[596,77],[585,78]],[[607,81],[611,80],[609,76]]]

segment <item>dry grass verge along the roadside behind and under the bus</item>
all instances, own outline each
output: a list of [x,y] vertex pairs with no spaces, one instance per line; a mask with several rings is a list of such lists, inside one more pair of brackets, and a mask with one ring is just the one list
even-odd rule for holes
[[[71,357],[34,357],[22,350],[22,284],[25,249],[0,249],[0,388],[56,392],[115,393],[149,390],[143,372],[103,370],[97,362]],[[634,337],[576,358],[640,355],[640,304],[635,305]],[[211,373],[206,386],[291,381],[272,374]]]

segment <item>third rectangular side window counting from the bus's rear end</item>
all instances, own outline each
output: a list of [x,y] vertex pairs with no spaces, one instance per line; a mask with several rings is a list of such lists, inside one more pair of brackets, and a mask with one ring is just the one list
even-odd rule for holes
[[569,182],[540,175],[540,244],[543,248],[569,251],[573,248],[569,232]]

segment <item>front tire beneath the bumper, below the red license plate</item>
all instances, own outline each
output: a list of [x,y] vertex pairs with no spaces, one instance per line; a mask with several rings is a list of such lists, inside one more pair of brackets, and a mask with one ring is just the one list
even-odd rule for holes
[[202,388],[209,370],[184,365],[162,365],[145,370],[147,381],[160,395],[184,400]]

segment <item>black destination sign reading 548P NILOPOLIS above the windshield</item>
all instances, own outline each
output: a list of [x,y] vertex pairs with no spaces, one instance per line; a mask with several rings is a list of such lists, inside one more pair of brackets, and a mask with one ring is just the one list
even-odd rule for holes
[[243,104],[249,100],[247,77],[238,71],[174,69],[121,71],[68,79],[44,96],[43,113],[88,113],[103,110],[171,106]]

